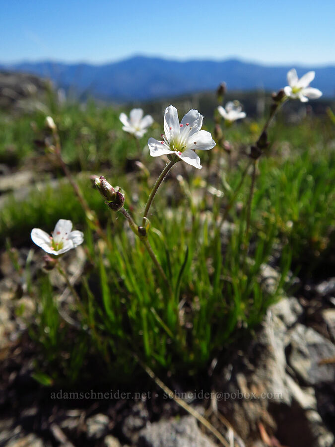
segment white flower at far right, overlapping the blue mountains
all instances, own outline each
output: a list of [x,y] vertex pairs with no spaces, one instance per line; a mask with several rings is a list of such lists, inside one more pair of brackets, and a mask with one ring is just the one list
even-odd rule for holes
[[322,92],[318,88],[309,87],[315,77],[315,72],[308,72],[300,79],[295,69],[287,73],[288,86],[284,87],[285,95],[289,98],[299,98],[301,102],[307,102],[308,98],[318,99]]

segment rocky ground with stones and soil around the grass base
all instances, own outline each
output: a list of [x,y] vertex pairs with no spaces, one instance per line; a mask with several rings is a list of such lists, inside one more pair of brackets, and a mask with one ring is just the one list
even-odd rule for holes
[[[27,256],[29,250],[22,248],[20,265]],[[79,248],[69,256],[75,281],[84,253]],[[41,262],[37,255],[33,259],[32,274]],[[162,399],[158,388],[156,400],[55,403],[50,390],[31,377],[34,346],[25,321],[35,302],[6,252],[1,254],[0,271],[0,446],[215,445],[209,432],[174,401]],[[269,267],[265,272],[270,281],[273,272]],[[60,281],[55,275],[54,284]],[[67,292],[60,303],[66,299]],[[223,366],[214,369],[212,397],[203,400],[188,394],[188,403],[224,434],[227,446],[331,447],[334,341],[335,278],[331,278],[271,306],[255,336],[230,348]],[[194,391],[185,383],[174,385],[185,393]]]

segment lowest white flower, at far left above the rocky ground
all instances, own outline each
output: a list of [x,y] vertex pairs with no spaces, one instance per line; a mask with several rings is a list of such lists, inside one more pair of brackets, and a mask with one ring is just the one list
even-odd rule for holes
[[72,222],[60,219],[50,236],[41,228],[31,230],[31,238],[36,245],[47,253],[61,255],[71,248],[75,248],[82,243],[84,235],[81,231],[71,231]]

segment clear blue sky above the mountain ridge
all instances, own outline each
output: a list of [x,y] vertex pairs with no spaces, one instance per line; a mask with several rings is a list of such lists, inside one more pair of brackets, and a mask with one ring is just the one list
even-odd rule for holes
[[0,0],[0,63],[169,59],[335,63],[331,0]]

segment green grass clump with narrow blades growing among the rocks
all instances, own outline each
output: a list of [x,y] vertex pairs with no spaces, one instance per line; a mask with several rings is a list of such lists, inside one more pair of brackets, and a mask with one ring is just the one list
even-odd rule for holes
[[[128,136],[116,131],[117,136],[111,137],[115,144],[106,137],[117,127],[117,120],[114,110],[89,106],[84,113],[74,106],[67,108],[56,119],[65,159],[95,169],[108,163],[109,157],[115,167],[125,165],[125,153],[142,156]],[[252,124],[254,127],[245,124],[227,129],[225,138],[243,144],[256,139]],[[148,240],[172,294],[141,240],[134,237],[123,216],[109,214],[101,197],[90,189],[88,178],[80,187],[89,207],[107,227],[105,240],[96,241],[94,226],[67,183],[46,188],[43,194],[32,191],[19,206],[13,199],[8,201],[0,216],[3,237],[15,239],[21,234],[26,240],[32,227],[43,222],[50,231],[60,217],[81,224],[85,231],[89,265],[77,286],[84,312],[75,305],[71,309],[81,329],[59,316],[52,300],[55,291],[44,274],[35,286],[41,302],[31,334],[45,353],[52,351],[46,357],[49,366],[43,368],[52,371],[53,380],[57,371],[58,377],[76,380],[91,355],[102,359],[111,376],[113,371],[116,375],[123,371],[130,380],[136,367],[134,352],[155,371],[199,373],[241,330],[257,326],[268,305],[287,287],[292,266],[313,273],[334,243],[330,235],[335,225],[332,132],[328,124],[307,118],[294,129],[279,122],[273,135],[276,144],[254,171],[250,207],[241,206],[248,204],[250,161],[240,155],[243,148],[238,145],[231,169],[224,175],[213,172],[215,159],[205,154],[208,177],[186,171],[179,183],[175,179],[169,183],[169,196],[164,194],[168,188],[161,188],[150,215]],[[291,137],[293,143],[284,144]],[[75,150],[78,145],[81,152]],[[287,156],[285,150],[290,152]],[[222,159],[226,155],[217,150],[215,156]],[[113,182],[122,184],[129,205],[132,196],[137,196],[131,213],[139,216],[148,194],[147,180],[134,186],[134,177],[128,184],[123,172],[117,172],[113,168]],[[223,197],[213,196],[213,184]],[[272,287],[265,287],[263,267],[267,264],[276,272]],[[67,333],[71,337],[64,335]],[[57,359],[64,352],[72,361],[58,368]]]

